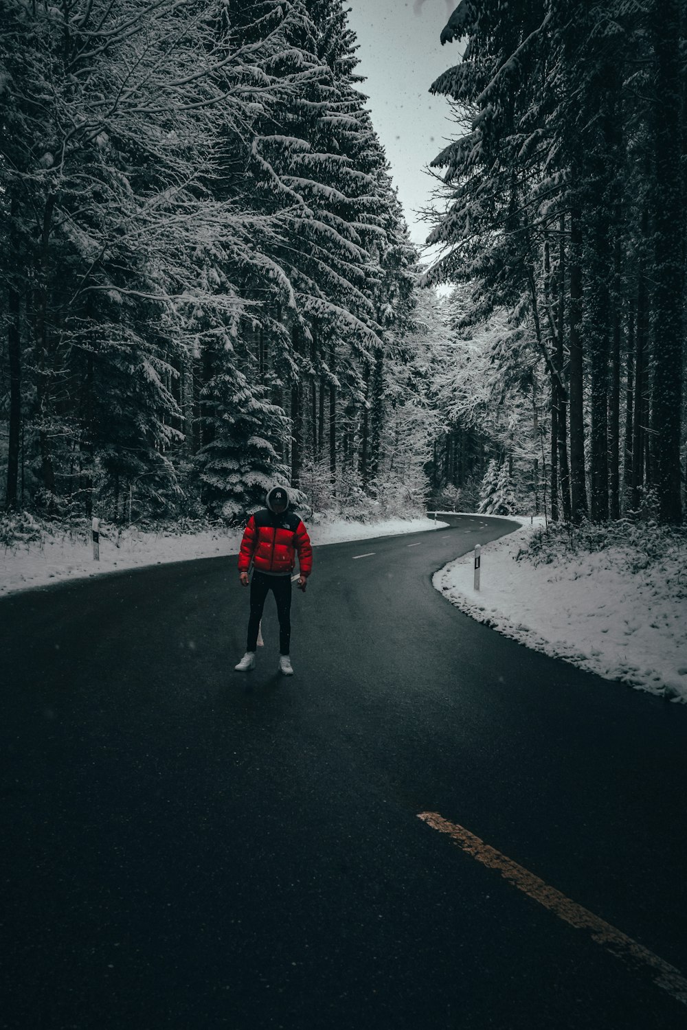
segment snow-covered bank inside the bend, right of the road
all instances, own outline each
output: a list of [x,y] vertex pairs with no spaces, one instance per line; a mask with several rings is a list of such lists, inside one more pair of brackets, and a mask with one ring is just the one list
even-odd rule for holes
[[687,702],[687,599],[672,595],[665,570],[632,573],[622,549],[612,547],[551,564],[516,561],[542,520],[515,521],[520,530],[482,548],[479,592],[472,553],[441,569],[435,587],[527,647]]

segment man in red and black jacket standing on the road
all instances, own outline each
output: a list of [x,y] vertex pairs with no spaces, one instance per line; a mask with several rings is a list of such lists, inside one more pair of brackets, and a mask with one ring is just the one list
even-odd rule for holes
[[[267,508],[248,519],[239,551],[239,578],[243,586],[250,583],[250,616],[246,653],[238,665],[247,673],[255,665],[257,630],[265,600],[270,590],[277,603],[279,618],[279,672],[293,676],[289,652],[291,632],[291,573],[299,556],[299,589],[305,590],[312,571],[312,547],[308,530],[294,512],[287,511],[288,493],[283,486],[273,486],[268,492]],[[248,571],[252,563],[252,581]]]

